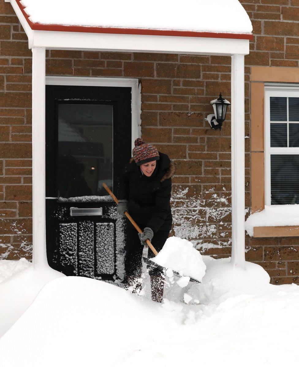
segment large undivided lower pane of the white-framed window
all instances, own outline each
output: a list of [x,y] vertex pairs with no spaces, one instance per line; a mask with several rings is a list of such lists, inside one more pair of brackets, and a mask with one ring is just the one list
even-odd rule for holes
[[271,205],[299,204],[299,155],[271,155]]

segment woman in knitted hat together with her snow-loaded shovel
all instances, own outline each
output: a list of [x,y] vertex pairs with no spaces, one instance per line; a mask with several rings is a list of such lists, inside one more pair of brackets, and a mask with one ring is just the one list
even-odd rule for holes
[[[103,186],[118,204],[118,212],[129,219],[125,286],[132,287],[134,291],[140,290],[141,257],[143,247],[148,244],[152,250],[148,253],[148,258],[158,255],[154,262],[146,259],[151,295],[153,301],[161,302],[165,278],[163,270],[173,269],[181,277],[189,274],[193,281],[201,281],[205,266],[201,255],[193,248],[191,242],[175,237],[166,241],[172,224],[170,195],[171,176],[175,171],[174,164],[167,155],[158,152],[153,145],[146,144],[141,138],[135,140],[135,148],[132,153],[133,157],[129,166],[126,167],[122,182],[121,199],[118,200],[104,183]],[[143,231],[140,227],[143,228]],[[153,243],[150,243],[153,238]],[[162,251],[158,254],[156,248]],[[184,281],[181,279],[178,284],[183,287],[183,283],[188,283],[187,278],[189,281],[190,277],[184,277]]]

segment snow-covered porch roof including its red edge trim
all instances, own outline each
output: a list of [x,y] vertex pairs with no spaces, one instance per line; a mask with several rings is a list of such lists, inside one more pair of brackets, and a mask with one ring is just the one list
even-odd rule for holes
[[31,28],[38,30],[252,37],[252,24],[238,0],[16,1]]

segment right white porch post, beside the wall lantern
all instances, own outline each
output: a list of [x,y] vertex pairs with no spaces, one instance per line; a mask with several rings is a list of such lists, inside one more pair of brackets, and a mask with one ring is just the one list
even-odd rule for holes
[[232,258],[245,268],[244,55],[231,62]]

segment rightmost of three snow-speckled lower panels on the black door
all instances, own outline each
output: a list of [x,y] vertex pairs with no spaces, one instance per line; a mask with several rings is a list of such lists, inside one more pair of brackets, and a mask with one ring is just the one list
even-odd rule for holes
[[113,274],[114,266],[114,224],[96,224],[96,270],[100,274]]

